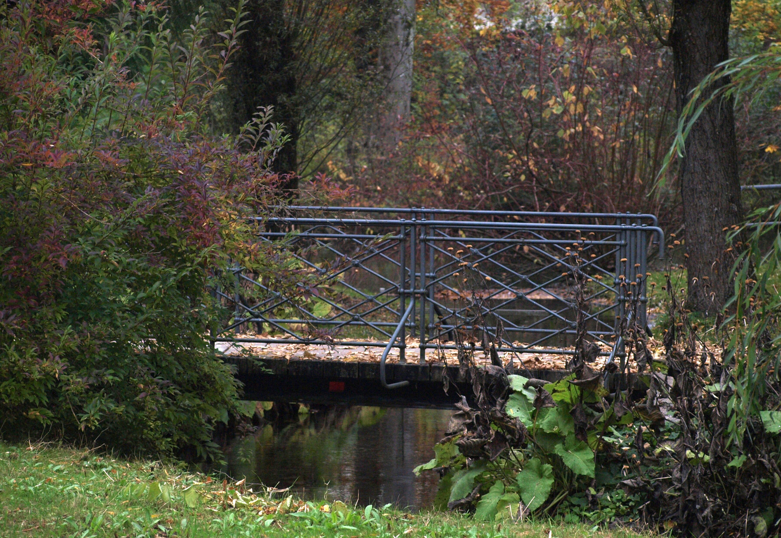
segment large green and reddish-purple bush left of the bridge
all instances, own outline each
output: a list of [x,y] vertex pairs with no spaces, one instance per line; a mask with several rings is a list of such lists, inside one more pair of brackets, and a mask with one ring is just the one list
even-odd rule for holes
[[209,136],[244,2],[207,43],[153,2],[0,7],[0,423],[125,452],[219,454],[237,386],[209,346],[219,268],[274,273],[269,111]]

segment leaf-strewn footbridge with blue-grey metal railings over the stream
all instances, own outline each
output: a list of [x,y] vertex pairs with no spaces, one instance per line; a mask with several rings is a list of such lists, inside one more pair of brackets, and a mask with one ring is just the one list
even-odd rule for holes
[[469,366],[561,379],[579,338],[620,376],[665,247],[647,214],[292,206],[256,223],[301,281],[234,265],[211,338],[265,401],[449,408]]

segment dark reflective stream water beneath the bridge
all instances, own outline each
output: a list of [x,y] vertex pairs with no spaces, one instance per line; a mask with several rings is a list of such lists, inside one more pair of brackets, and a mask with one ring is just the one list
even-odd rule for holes
[[412,474],[433,458],[451,412],[431,409],[329,406],[298,422],[267,424],[237,442],[229,474],[248,483],[287,487],[307,498],[430,506],[436,473]]

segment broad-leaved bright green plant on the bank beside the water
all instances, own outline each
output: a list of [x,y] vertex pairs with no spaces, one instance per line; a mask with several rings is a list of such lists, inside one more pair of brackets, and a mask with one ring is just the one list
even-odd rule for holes
[[[442,504],[444,494],[448,506],[454,508],[470,494],[476,497],[482,491],[476,518],[519,518],[535,511],[553,513],[572,494],[604,485],[606,478],[600,476],[597,480],[595,474],[595,452],[604,452],[612,444],[614,426],[623,428],[637,415],[617,413],[615,406],[601,401],[607,391],[599,383],[581,387],[574,374],[538,390],[531,387],[536,379],[530,383],[526,377],[511,375],[507,380],[510,392],[504,411],[511,421],[519,423],[508,424],[507,417],[496,419],[494,413],[490,422],[494,434],[483,445],[487,453],[480,454],[482,448],[475,451],[474,444],[463,441],[473,437],[469,424],[481,422],[480,412],[462,408],[455,424],[463,420],[467,426],[459,425],[458,431],[451,431],[451,436],[434,448],[437,457],[415,469],[417,473],[444,470]],[[510,446],[504,440],[514,437],[513,429],[523,434],[519,443]],[[501,447],[493,458],[492,445]]]

